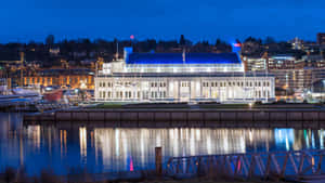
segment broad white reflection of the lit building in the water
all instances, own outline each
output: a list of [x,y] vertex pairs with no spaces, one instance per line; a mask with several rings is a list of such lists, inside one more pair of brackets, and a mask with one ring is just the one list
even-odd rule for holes
[[[166,157],[245,153],[273,142],[273,130],[95,128],[96,160],[105,169],[153,166],[155,147]],[[265,145],[264,145],[265,146]],[[131,161],[132,160],[132,161]]]

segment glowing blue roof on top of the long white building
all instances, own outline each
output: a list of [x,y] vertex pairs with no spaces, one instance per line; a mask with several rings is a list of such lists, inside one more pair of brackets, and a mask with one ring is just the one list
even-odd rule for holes
[[236,53],[130,53],[127,64],[242,64]]

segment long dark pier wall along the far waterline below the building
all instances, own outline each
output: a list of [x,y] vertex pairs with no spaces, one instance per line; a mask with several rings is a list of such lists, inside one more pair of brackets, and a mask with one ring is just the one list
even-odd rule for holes
[[81,123],[105,127],[145,128],[324,128],[323,108],[153,108],[65,109],[25,115],[27,123]]

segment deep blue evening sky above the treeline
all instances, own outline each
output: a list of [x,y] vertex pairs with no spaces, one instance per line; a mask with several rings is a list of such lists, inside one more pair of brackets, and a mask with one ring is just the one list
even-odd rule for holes
[[325,31],[324,0],[1,0],[0,42],[64,38],[232,40]]

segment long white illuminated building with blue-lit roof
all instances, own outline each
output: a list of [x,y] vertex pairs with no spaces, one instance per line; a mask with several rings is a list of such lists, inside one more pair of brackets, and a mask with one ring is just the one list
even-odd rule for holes
[[98,102],[222,102],[274,100],[274,77],[244,73],[236,53],[132,53],[106,63],[94,79]]

